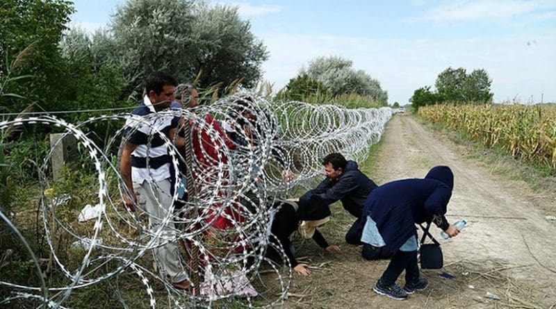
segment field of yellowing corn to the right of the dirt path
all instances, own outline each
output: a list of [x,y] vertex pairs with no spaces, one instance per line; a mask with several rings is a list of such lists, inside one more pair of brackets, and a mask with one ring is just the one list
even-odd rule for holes
[[556,105],[437,105],[419,108],[424,119],[459,131],[514,158],[556,172]]

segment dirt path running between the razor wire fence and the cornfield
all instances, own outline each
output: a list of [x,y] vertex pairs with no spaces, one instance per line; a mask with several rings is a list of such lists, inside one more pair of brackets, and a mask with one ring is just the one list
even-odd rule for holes
[[[438,133],[431,133],[409,115],[387,124],[375,171],[362,166],[378,184],[400,178],[422,178],[434,165],[448,165],[455,188],[448,220],[465,218],[464,233],[443,242],[441,278],[425,270],[430,287],[407,301],[379,297],[371,288],[386,261],[368,262],[359,248],[345,244],[343,233],[354,220],[341,207],[323,228],[329,242],[342,244],[340,253],[322,253],[310,242],[299,244],[298,256],[316,266],[313,274],[295,276],[290,308],[556,308],[555,197],[538,197],[523,181],[507,181],[491,173],[481,160]],[[371,159],[373,160],[373,159]],[[553,213],[550,213],[552,210]],[[433,235],[439,230],[434,228]],[[486,292],[499,300],[485,298]]]

